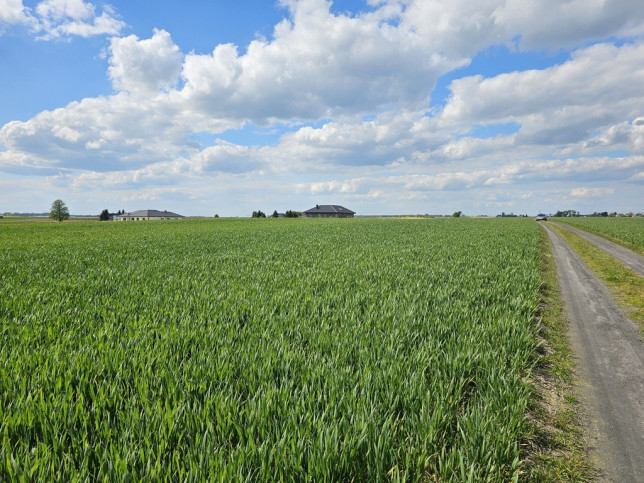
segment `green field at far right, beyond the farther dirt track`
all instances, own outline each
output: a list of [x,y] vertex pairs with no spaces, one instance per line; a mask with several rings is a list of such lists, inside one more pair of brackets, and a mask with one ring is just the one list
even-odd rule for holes
[[552,221],[576,226],[613,241],[625,242],[622,244],[644,254],[644,218],[575,217],[553,218]]

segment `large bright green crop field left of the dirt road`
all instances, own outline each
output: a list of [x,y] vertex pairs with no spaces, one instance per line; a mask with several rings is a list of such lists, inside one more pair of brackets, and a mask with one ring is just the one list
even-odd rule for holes
[[512,480],[528,219],[0,225],[0,480]]

